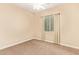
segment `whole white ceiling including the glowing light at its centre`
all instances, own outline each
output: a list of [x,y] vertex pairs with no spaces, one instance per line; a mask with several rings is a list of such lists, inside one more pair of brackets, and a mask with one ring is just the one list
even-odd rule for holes
[[[17,3],[16,5],[21,8],[27,9],[31,12],[39,12],[42,10],[49,9],[51,7],[53,8],[57,5],[60,5],[60,3],[41,3],[40,4],[41,6],[39,6],[39,3]],[[34,9],[34,5],[36,6],[37,9]],[[40,7],[40,8],[38,8],[38,7]]]

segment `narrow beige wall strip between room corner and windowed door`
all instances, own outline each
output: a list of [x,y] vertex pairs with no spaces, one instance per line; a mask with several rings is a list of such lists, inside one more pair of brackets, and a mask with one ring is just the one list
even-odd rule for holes
[[34,38],[41,40],[42,39],[42,21],[39,14],[34,13]]

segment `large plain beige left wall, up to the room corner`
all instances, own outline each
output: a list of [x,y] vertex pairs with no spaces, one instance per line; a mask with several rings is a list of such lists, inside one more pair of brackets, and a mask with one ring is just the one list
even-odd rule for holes
[[13,4],[0,4],[0,49],[34,36],[34,14]]

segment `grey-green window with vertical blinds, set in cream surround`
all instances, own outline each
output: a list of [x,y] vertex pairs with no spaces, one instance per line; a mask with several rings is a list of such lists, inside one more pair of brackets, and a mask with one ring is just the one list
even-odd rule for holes
[[54,17],[52,15],[45,16],[44,22],[45,31],[54,31]]

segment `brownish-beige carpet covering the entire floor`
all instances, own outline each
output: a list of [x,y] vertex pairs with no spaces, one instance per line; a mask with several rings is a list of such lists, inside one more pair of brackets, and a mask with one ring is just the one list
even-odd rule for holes
[[78,49],[60,46],[40,40],[30,40],[0,51],[0,55],[76,55]]

